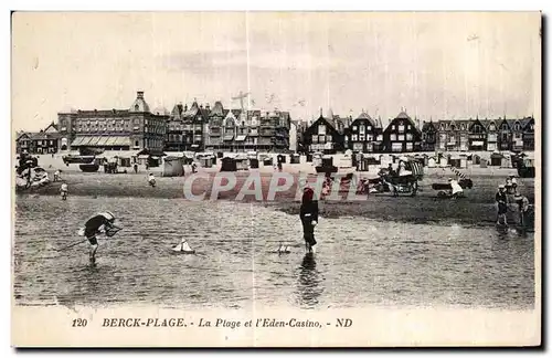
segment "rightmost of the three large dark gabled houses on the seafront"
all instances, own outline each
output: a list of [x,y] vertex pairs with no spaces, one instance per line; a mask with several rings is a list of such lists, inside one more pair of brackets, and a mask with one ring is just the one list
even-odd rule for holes
[[422,147],[422,133],[414,120],[401,112],[383,131],[383,145],[388,152],[417,151]]

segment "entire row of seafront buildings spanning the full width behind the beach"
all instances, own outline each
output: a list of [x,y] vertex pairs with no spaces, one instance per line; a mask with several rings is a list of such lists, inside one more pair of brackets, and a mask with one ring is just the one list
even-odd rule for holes
[[50,154],[81,148],[155,151],[325,151],[363,152],[534,150],[534,119],[423,122],[401,112],[384,127],[362,112],[357,118],[325,117],[311,124],[291,120],[288,112],[227,109],[176,104],[150,109],[138,92],[129,108],[59,113],[39,133],[20,133],[18,152]]

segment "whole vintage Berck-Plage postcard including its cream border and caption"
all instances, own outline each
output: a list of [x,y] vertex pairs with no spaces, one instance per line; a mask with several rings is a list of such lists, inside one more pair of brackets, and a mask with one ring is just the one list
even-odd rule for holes
[[540,345],[541,17],[14,12],[12,345]]

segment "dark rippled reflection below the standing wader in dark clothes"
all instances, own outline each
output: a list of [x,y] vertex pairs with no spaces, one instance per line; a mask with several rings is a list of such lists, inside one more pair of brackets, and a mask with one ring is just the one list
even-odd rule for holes
[[300,305],[314,307],[319,303],[319,297],[323,292],[320,272],[316,268],[316,260],[312,254],[305,254],[299,266],[299,280],[297,283],[297,294]]

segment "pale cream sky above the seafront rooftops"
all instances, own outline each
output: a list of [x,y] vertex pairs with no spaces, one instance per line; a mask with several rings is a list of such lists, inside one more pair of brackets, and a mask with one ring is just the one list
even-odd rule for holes
[[232,99],[293,119],[509,118],[541,107],[538,12],[19,12],[12,128],[71,109]]

